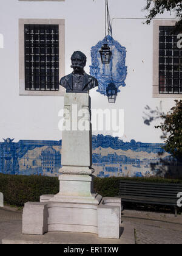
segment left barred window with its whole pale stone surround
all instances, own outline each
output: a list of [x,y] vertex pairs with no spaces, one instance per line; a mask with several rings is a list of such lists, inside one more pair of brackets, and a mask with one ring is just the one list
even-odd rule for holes
[[19,20],[20,95],[62,96],[64,20]]

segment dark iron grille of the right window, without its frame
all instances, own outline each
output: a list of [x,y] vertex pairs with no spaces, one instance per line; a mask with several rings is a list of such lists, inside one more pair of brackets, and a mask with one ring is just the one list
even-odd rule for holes
[[159,93],[182,94],[182,48],[173,26],[160,26]]

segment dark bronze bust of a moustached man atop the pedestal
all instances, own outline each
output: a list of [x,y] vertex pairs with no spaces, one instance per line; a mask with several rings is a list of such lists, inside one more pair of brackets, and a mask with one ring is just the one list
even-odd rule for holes
[[98,81],[93,76],[89,76],[84,71],[87,57],[83,52],[73,52],[72,57],[73,72],[61,78],[59,84],[66,88],[67,93],[87,93],[90,89],[98,86]]

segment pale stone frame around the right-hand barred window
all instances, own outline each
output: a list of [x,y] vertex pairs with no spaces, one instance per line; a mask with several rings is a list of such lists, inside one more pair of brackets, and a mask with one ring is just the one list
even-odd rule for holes
[[175,26],[177,20],[153,20],[153,98],[182,98],[182,94],[159,93],[159,27]]

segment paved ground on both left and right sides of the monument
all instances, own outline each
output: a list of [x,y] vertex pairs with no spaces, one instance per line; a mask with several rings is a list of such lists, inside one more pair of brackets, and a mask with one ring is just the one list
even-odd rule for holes
[[[5,236],[21,231],[22,211],[0,207],[0,243]],[[182,215],[124,210],[122,221],[135,228],[137,244],[182,244]]]

